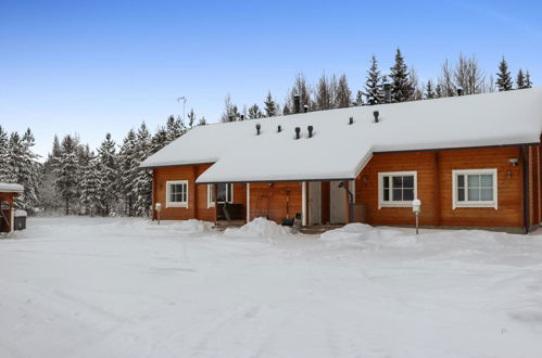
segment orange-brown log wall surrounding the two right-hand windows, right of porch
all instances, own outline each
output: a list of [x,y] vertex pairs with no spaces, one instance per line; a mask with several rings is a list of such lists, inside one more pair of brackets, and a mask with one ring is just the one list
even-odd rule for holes
[[[518,158],[519,165],[513,166],[508,158]],[[452,170],[484,168],[497,169],[499,208],[453,209]],[[519,148],[374,155],[356,179],[356,202],[366,205],[368,223],[414,223],[409,207],[378,208],[378,172],[411,170],[417,171],[418,199],[423,203],[423,226],[524,226],[522,161]]]

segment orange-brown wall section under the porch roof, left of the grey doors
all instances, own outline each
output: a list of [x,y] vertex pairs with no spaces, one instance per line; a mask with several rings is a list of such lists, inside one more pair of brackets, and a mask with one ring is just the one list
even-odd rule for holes
[[[302,188],[300,182],[266,182],[250,184],[250,218],[267,216],[270,220],[281,222],[287,213],[287,192],[290,192],[289,216],[301,213]],[[269,204],[267,206],[267,204]]]

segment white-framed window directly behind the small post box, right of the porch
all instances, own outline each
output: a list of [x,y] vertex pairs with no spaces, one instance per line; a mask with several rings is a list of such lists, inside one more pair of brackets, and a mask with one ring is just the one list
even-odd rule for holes
[[417,197],[416,171],[378,174],[378,208],[412,206]]

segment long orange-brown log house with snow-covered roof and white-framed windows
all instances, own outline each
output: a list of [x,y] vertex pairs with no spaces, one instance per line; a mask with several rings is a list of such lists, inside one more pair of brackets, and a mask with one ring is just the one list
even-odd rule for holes
[[541,132],[533,88],[197,127],[141,167],[162,219],[412,226],[419,199],[425,227],[527,232]]

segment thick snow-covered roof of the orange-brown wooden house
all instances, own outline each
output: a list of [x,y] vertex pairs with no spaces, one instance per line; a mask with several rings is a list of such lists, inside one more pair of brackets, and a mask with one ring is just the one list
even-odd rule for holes
[[141,167],[214,163],[199,183],[353,179],[374,152],[537,143],[541,132],[542,88],[533,88],[197,127]]

